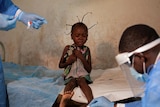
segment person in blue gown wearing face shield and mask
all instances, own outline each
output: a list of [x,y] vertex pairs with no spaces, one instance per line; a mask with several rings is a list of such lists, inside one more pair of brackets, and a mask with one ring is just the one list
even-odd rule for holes
[[160,38],[145,24],[128,27],[119,42],[118,64],[139,82],[145,83],[141,100],[114,103],[104,96],[94,98],[89,107],[160,107]]

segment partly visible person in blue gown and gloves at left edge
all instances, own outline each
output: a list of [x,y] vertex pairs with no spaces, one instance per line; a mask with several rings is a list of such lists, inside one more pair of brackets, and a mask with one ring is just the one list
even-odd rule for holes
[[[0,30],[8,31],[16,27],[16,22],[20,21],[34,29],[39,29],[44,23],[47,23],[46,19],[37,15],[26,13],[16,6],[11,0],[0,0]],[[0,107],[7,106],[7,90],[4,80],[4,72],[2,61],[0,59]]]

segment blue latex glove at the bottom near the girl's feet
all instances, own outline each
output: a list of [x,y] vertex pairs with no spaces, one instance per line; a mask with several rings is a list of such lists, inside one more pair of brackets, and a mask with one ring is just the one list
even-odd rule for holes
[[114,103],[102,96],[93,99],[88,107],[114,107]]

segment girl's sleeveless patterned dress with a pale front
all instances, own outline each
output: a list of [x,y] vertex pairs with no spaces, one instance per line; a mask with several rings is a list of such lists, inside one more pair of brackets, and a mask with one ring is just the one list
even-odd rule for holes
[[[64,56],[66,60],[72,54],[74,49],[80,50],[83,56],[86,59],[88,59],[89,48],[87,46],[83,46],[83,48],[80,49],[80,48],[76,48],[76,46],[73,44],[73,45],[70,45],[66,55]],[[77,59],[77,61],[75,61],[72,65],[69,65],[66,67],[66,69],[64,70],[64,76],[65,76],[65,84],[68,83],[72,78],[78,78],[78,77],[85,77],[88,83],[92,83],[90,75],[84,69],[80,59]]]

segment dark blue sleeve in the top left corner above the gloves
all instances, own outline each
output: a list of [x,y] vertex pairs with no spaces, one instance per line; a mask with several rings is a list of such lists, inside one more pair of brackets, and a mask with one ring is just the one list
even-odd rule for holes
[[0,0],[0,13],[6,15],[15,15],[19,7],[14,5],[11,0]]

